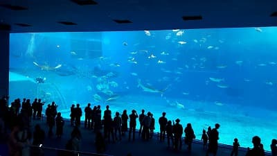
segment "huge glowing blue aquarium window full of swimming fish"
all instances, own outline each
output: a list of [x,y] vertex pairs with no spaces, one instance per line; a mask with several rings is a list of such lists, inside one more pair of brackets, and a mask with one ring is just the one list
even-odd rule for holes
[[[220,123],[222,144],[238,138],[266,150],[277,128],[277,28],[10,34],[10,102],[55,101],[69,118],[72,104],[109,105],[192,123]],[[44,109],[46,108],[44,105]],[[83,116],[84,117],[84,114]],[[139,124],[137,125],[139,126]]]

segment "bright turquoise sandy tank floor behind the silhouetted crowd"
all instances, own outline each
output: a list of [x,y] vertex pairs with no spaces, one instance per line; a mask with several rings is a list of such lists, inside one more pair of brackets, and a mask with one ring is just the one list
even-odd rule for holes
[[[179,105],[177,105],[179,103]],[[270,150],[271,139],[276,137],[276,113],[270,110],[262,110],[257,107],[244,107],[242,105],[226,104],[216,105],[203,101],[189,101],[185,98],[170,99],[161,96],[125,95],[120,96],[116,101],[109,103],[92,103],[101,105],[102,114],[105,106],[109,105],[112,114],[127,110],[129,114],[133,109],[141,113],[152,112],[155,123],[155,132],[159,131],[159,117],[162,112],[166,112],[166,117],[170,120],[181,119],[181,124],[186,127],[186,123],[192,123],[197,139],[201,139],[203,128],[214,127],[215,123],[220,123],[220,140],[222,144],[233,144],[233,139],[238,138],[240,146],[251,147],[251,139],[258,135],[262,139],[265,150]],[[180,105],[181,104],[181,105]],[[184,107],[183,107],[183,106]],[[82,105],[84,109],[85,104]],[[256,114],[256,112],[259,112]],[[69,117],[69,109],[62,111],[64,117]],[[264,114],[264,115],[261,115]],[[84,116],[82,116],[84,120]],[[271,119],[271,120],[268,120]],[[137,128],[139,124],[137,125]]]

